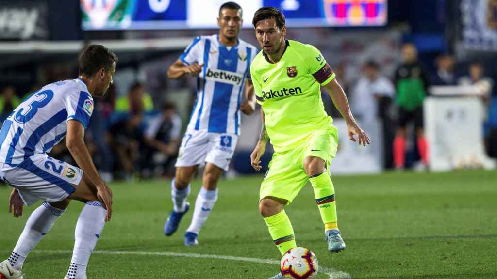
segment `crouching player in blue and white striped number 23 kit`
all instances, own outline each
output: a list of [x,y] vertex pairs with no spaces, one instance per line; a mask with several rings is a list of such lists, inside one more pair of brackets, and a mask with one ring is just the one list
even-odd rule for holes
[[[3,122],[0,178],[13,187],[9,212],[19,217],[24,204],[44,201],[29,216],[10,257],[0,263],[4,278],[22,279],[29,252],[66,211],[70,200],[78,200],[85,205],[76,223],[73,257],[65,279],[86,279],[89,257],[112,214],[112,192],[98,175],[83,136],[93,112],[93,96],[107,91],[116,63],[111,51],[89,45],[80,55],[77,79],[43,86]],[[47,155],[64,137],[81,169]]]

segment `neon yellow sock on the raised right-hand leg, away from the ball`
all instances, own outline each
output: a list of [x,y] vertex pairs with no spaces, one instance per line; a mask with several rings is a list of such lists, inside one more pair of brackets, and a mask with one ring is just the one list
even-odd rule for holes
[[309,181],[311,181],[314,189],[314,197],[325,224],[325,231],[338,229],[336,225],[335,190],[330,174],[325,171],[318,176],[309,178]]

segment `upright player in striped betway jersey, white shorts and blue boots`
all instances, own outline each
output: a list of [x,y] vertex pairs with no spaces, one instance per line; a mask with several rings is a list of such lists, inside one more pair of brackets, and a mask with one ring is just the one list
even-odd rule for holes
[[[238,37],[242,27],[240,5],[221,5],[218,25],[219,34],[195,38],[167,72],[173,79],[185,74],[198,77],[197,99],[171,182],[173,210],[164,225],[167,236],[177,230],[189,209],[186,198],[190,181],[198,165],[205,162],[202,188],[185,233],[187,246],[198,244],[198,233],[216,203],[219,177],[228,170],[240,135],[240,110],[250,115],[255,108],[249,74],[257,49]],[[241,102],[243,93],[247,101]]]

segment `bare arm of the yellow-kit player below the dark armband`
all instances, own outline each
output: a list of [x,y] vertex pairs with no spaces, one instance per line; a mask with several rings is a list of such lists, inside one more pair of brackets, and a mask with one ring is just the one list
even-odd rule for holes
[[359,144],[366,146],[366,143],[369,144],[369,136],[366,132],[364,132],[359,125],[355,122],[354,116],[350,111],[350,106],[348,105],[347,96],[343,91],[343,88],[340,84],[333,78],[330,82],[324,85],[326,91],[331,97],[333,104],[340,111],[345,123],[347,123],[347,134],[350,140],[356,141],[354,135],[357,136],[357,141]]

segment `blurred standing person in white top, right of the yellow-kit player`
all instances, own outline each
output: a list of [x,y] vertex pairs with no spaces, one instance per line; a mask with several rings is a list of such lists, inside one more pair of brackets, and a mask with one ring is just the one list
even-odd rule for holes
[[383,131],[383,162],[385,168],[393,167],[393,120],[389,113],[395,89],[392,82],[381,75],[378,64],[368,61],[363,75],[357,82],[352,95],[352,108],[361,123],[381,121]]

